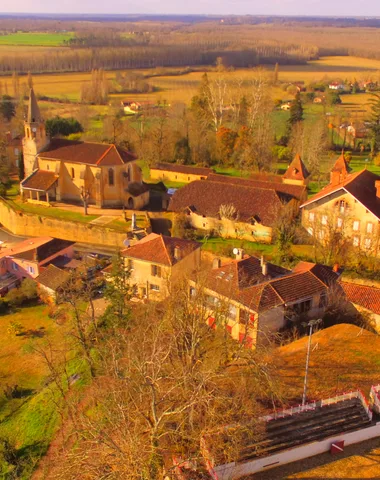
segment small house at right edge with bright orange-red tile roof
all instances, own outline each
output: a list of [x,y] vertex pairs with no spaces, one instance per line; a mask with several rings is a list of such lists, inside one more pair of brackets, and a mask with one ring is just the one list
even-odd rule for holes
[[380,333],[380,288],[351,282],[339,282],[346,299],[359,312],[370,314],[374,328]]

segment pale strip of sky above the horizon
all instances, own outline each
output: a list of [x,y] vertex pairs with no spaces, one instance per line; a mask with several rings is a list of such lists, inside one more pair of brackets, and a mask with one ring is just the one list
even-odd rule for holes
[[0,12],[380,16],[380,0],[1,0]]

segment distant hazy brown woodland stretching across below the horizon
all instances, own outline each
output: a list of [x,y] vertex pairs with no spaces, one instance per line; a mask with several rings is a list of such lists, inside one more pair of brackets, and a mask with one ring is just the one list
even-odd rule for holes
[[[305,64],[324,55],[380,59],[380,19],[296,17],[41,18],[0,16],[0,35],[74,32],[59,47],[0,49],[0,73],[79,72],[215,64]],[[88,19],[85,17],[86,20]],[[47,47],[46,47],[47,48]]]

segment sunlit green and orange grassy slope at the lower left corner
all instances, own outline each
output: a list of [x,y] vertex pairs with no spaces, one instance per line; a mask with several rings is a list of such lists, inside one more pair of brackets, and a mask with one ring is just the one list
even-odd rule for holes
[[[11,321],[23,326],[22,335],[8,334]],[[18,458],[23,463],[22,473],[17,478],[26,479],[45,454],[60,424],[58,390],[54,384],[46,386],[49,370],[32,347],[49,341],[53,349],[63,348],[68,327],[57,325],[49,318],[46,305],[22,307],[2,315],[0,324],[1,386],[18,385],[22,392],[22,398],[11,400],[0,392],[0,437],[8,438],[17,448]],[[80,372],[81,380],[74,387],[79,388],[86,382],[86,369],[82,360],[74,356],[75,351],[70,355],[68,371],[69,374]],[[0,462],[0,471],[1,467]]]

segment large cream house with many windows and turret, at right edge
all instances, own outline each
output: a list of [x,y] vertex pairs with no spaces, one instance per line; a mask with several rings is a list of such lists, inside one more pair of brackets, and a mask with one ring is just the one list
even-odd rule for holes
[[364,169],[350,173],[343,154],[330,173],[330,183],[301,205],[302,224],[320,241],[329,228],[344,232],[355,248],[378,255],[380,238],[380,176]]

